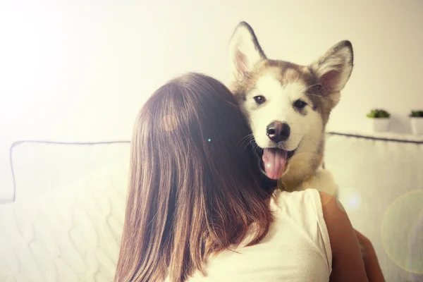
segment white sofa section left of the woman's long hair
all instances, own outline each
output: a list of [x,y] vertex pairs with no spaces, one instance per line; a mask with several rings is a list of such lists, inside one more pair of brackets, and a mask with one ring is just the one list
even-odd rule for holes
[[113,281],[128,144],[15,148],[16,202],[0,205],[1,282]]

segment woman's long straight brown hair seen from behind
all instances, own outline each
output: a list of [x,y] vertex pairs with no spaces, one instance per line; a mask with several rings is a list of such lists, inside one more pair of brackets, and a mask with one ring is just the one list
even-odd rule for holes
[[[218,80],[188,73],[160,87],[137,116],[115,281],[185,281],[211,254],[269,231],[250,129]],[[250,238],[250,237],[248,237]]]

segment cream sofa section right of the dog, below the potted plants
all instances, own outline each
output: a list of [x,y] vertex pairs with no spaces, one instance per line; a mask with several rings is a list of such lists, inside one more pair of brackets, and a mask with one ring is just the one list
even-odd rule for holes
[[341,134],[328,134],[325,162],[353,226],[386,281],[423,281],[423,136]]

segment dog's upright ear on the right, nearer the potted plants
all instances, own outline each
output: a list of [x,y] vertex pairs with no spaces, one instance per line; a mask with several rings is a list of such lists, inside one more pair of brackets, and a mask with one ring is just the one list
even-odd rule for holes
[[340,92],[353,71],[353,45],[348,40],[338,42],[326,51],[310,69],[317,76],[322,94]]

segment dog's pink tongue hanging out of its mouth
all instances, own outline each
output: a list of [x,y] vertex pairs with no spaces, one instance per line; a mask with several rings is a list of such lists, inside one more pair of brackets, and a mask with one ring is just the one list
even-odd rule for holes
[[286,150],[267,148],[263,152],[264,171],[270,179],[281,178],[286,164]]

